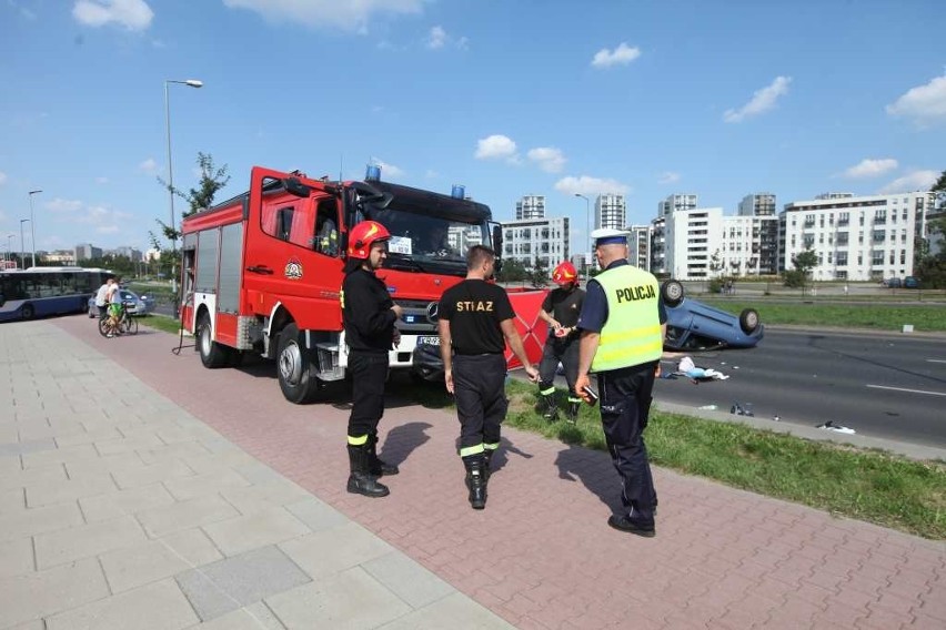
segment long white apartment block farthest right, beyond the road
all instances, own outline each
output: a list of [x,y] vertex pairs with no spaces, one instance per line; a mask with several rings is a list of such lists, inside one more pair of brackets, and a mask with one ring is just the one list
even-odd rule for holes
[[779,219],[779,271],[807,248],[818,256],[816,281],[878,281],[913,275],[915,244],[926,237],[929,192],[854,196],[828,193],[785,205]]

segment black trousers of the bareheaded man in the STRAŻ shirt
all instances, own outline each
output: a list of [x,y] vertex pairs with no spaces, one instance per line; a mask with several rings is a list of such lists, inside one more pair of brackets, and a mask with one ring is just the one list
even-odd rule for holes
[[460,418],[460,453],[476,455],[500,444],[506,417],[506,359],[502,354],[454,355],[453,394]]

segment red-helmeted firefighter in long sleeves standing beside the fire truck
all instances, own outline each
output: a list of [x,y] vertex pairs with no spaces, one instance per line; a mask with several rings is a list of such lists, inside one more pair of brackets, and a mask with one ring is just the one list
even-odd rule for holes
[[401,307],[374,273],[388,257],[390,238],[388,230],[374,221],[352,227],[341,292],[349,369],[354,384],[349,417],[348,490],[366,497],[388,496],[388,487],[378,478],[399,471],[396,466],[378,458],[378,423],[384,415],[388,352],[401,342],[395,326]]

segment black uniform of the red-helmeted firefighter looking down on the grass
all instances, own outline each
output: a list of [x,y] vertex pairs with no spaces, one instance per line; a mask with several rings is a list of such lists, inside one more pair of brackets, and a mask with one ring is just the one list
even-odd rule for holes
[[[565,328],[574,328],[578,323],[585,292],[577,285],[571,288],[555,288],[549,292],[542,303],[542,309],[551,313],[552,317]],[[568,383],[568,420],[575,421],[578,405],[582,399],[575,392],[575,379],[578,376],[578,331],[572,331],[565,337],[556,337],[549,328],[549,337],[542,350],[542,362],[539,364],[539,395],[543,404],[543,414],[550,420],[556,417],[555,373],[558,364],[565,368],[565,380]]]

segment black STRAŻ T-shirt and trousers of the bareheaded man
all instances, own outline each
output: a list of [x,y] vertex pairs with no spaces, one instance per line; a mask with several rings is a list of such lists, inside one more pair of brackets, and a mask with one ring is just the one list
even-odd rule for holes
[[460,418],[460,455],[486,459],[500,446],[506,417],[505,337],[500,323],[515,316],[503,287],[464,280],[440,299],[440,318],[450,322],[453,387]]

